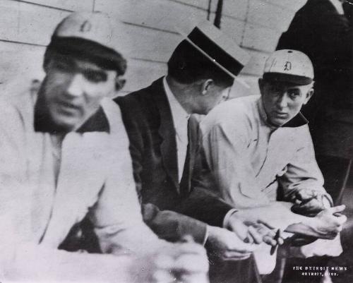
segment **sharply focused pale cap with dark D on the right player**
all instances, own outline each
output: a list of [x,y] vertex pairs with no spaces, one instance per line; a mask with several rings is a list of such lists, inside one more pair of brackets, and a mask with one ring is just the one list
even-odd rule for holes
[[309,85],[313,82],[313,64],[303,52],[292,49],[277,50],[265,62],[263,78]]

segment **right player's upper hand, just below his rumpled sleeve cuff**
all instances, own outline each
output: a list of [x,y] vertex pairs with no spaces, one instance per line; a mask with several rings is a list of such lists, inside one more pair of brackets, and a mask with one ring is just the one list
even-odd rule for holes
[[303,188],[294,195],[292,212],[299,215],[315,216],[328,207],[330,207],[330,201],[324,193]]

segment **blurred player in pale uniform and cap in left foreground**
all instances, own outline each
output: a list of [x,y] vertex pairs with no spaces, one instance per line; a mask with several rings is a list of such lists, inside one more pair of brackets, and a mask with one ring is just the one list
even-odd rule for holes
[[[207,281],[202,247],[158,239],[140,215],[119,108],[103,101],[126,71],[123,29],[115,28],[103,13],[64,18],[45,52],[35,104],[29,92],[0,102],[5,281]],[[58,251],[86,216],[100,250],[119,256]]]

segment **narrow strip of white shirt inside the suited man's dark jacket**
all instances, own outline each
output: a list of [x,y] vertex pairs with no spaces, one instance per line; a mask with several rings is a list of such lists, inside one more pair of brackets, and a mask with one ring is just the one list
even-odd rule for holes
[[184,171],[184,164],[186,159],[186,151],[188,147],[188,120],[190,114],[188,114],[178,100],[174,97],[172,90],[170,90],[167,83],[167,79],[163,78],[163,86],[165,93],[167,94],[169,106],[172,112],[172,118],[176,133],[177,141],[177,155],[178,155],[178,179],[181,181],[181,176]]

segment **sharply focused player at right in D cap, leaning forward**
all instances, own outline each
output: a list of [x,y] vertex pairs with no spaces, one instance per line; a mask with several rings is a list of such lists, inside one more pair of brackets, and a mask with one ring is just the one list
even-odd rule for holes
[[[261,95],[224,102],[201,122],[202,162],[193,183],[239,210],[230,218],[333,239],[346,220],[333,214],[345,207],[331,207],[300,113],[313,95],[311,61],[295,50],[276,51],[259,87]],[[276,200],[295,204],[292,212]]]

